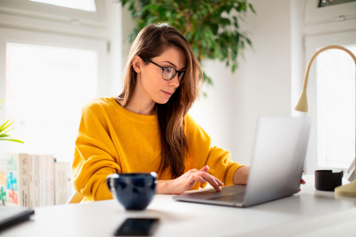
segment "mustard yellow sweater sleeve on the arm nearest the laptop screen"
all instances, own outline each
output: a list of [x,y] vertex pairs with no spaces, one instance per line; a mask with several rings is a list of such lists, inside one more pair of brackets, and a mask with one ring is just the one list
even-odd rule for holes
[[[210,136],[189,114],[184,118],[184,128],[188,142],[186,163],[190,168],[200,169],[208,165],[210,174],[221,180],[224,185],[233,185],[233,175],[243,165],[233,162],[227,150],[212,146]],[[206,184],[200,184],[201,188],[205,186]]]

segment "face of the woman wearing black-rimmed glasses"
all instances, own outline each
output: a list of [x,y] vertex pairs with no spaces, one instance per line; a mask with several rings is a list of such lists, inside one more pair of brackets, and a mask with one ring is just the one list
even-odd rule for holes
[[[177,47],[167,48],[160,56],[148,59],[162,67],[172,67],[176,71],[185,71],[186,68],[185,52]],[[178,73],[172,80],[166,81],[162,78],[162,69],[157,65],[141,65],[140,80],[143,91],[156,103],[167,103],[179,86]]]

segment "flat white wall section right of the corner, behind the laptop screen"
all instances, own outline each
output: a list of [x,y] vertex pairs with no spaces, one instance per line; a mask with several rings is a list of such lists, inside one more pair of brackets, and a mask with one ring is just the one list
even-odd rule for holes
[[252,1],[257,14],[249,14],[246,27],[253,50],[236,75],[236,161],[249,164],[258,116],[290,115],[290,1]]

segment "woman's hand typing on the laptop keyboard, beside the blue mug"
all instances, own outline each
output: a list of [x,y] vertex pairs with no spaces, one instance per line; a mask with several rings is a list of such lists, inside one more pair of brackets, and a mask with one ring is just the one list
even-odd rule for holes
[[208,170],[209,166],[206,165],[200,170],[190,169],[177,177],[177,179],[158,181],[157,194],[181,194],[191,189],[196,182],[201,184],[208,182],[216,191],[220,192],[221,188],[219,186],[224,184],[213,175],[207,173]]

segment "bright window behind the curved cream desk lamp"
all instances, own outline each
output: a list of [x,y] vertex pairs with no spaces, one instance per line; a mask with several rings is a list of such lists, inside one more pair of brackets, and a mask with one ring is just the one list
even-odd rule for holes
[[[356,31],[306,37],[306,64],[321,47],[337,44],[356,53]],[[355,157],[355,66],[344,51],[329,49],[312,64],[307,88],[312,129],[306,171],[345,170]]]

